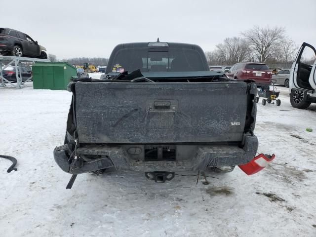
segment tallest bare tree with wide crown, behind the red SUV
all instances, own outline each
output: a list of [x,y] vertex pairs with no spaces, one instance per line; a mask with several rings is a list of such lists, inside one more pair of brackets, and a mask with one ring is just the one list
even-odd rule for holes
[[256,55],[259,62],[265,62],[268,58],[273,57],[275,48],[280,44],[285,36],[283,27],[259,27],[242,32],[252,52]]

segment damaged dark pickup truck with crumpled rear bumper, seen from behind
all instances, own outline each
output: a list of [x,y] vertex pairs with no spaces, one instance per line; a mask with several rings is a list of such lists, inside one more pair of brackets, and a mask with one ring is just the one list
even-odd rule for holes
[[209,71],[197,45],[119,44],[101,79],[68,87],[54,158],[70,174],[115,167],[164,182],[174,172],[231,171],[256,155],[256,85]]

